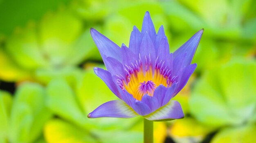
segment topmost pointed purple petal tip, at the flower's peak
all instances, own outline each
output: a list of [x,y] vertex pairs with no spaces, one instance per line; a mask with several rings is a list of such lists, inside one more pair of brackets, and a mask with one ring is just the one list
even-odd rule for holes
[[143,23],[142,23],[142,28],[141,28],[141,33],[143,35],[146,32],[148,32],[150,39],[154,42],[157,36],[157,33],[155,32],[155,27],[148,11],[145,13]]

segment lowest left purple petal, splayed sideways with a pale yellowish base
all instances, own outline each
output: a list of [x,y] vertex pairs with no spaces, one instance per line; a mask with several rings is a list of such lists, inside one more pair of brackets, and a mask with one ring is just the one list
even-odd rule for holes
[[92,113],[88,115],[89,118],[98,117],[118,117],[118,118],[132,118],[138,116],[135,111],[132,110],[122,100],[112,100],[106,102],[96,108]]

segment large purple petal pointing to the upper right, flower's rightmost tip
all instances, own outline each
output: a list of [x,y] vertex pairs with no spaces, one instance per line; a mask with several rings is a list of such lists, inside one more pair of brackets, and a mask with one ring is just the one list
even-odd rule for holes
[[186,43],[184,43],[179,49],[177,49],[173,53],[173,58],[180,58],[180,56],[182,56],[182,53],[187,53],[183,64],[189,65],[193,59],[203,32],[204,29],[201,29],[197,33],[195,33],[195,35],[193,35],[188,41],[186,41]]

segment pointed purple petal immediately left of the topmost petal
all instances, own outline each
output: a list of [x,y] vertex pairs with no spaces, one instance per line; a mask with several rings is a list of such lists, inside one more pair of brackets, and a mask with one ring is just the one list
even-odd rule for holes
[[133,31],[130,35],[129,42],[129,48],[132,50],[132,52],[139,53],[142,38],[143,36],[141,32],[139,32],[139,29],[136,26],[133,26]]

